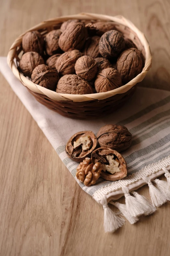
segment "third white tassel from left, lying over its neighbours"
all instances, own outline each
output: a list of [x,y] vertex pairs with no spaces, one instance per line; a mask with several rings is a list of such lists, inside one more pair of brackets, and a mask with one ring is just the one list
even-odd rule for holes
[[125,196],[127,213],[131,217],[138,217],[144,214],[144,210],[142,209],[140,203],[137,201],[137,199],[134,196],[131,196],[129,194],[129,189],[126,186],[123,186],[121,189]]

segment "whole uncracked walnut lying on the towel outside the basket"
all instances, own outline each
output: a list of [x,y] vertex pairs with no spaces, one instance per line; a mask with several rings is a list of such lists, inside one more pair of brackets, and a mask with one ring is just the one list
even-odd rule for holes
[[101,147],[109,147],[118,152],[126,150],[132,143],[132,134],[121,125],[105,125],[96,137]]

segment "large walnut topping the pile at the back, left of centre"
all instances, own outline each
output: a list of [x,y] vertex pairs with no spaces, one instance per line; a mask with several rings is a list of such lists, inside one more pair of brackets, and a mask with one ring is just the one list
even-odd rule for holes
[[59,38],[59,46],[64,52],[81,50],[87,38],[87,29],[83,23],[70,23]]

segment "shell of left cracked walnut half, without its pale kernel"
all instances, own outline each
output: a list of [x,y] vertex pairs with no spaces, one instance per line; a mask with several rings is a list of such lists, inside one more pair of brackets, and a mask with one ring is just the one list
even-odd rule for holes
[[[79,138],[89,136],[91,139],[91,143],[89,148],[86,150],[82,149],[82,145],[80,144],[78,147],[74,147],[74,142],[76,142]],[[97,146],[96,136],[92,131],[80,131],[75,133],[67,142],[65,151],[69,158],[73,159],[76,162],[82,162],[86,157],[91,157],[92,151]]]

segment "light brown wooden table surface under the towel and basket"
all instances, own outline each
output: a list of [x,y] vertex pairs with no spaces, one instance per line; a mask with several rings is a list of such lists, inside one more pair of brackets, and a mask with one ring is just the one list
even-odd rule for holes
[[[95,12],[124,15],[147,36],[153,65],[143,86],[170,90],[169,0],[3,0],[0,55],[39,22]],[[0,75],[0,256],[170,255],[170,203],[104,233],[103,209],[73,179]],[[139,193],[148,196],[148,187]],[[113,210],[116,210],[114,207]]]

